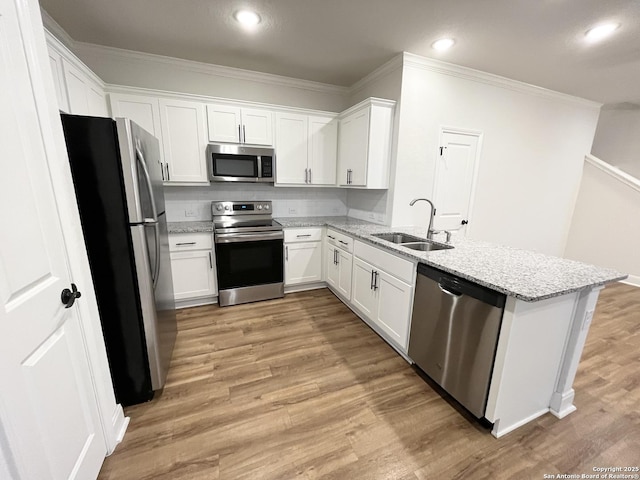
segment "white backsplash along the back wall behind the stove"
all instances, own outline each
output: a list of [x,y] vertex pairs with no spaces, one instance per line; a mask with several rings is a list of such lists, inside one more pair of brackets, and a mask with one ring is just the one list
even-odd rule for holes
[[217,183],[209,187],[165,187],[167,220],[211,220],[214,200],[271,200],[274,217],[347,215],[347,191],[340,188],[273,187]]

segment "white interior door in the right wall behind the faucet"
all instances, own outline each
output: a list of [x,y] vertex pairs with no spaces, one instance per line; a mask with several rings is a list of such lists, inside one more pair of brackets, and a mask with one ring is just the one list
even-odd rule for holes
[[464,232],[469,223],[480,134],[443,130],[441,139],[434,186],[435,227]]

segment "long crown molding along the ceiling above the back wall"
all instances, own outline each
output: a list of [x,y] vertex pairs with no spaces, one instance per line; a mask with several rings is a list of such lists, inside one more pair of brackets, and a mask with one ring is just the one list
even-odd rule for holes
[[147,63],[156,65],[166,65],[172,68],[187,70],[196,73],[204,73],[208,75],[216,75],[220,77],[232,78],[234,80],[248,80],[268,85],[277,85],[281,87],[298,88],[313,92],[325,93],[329,95],[346,96],[349,92],[347,87],[339,85],[330,85],[327,83],[313,82],[311,80],[301,80],[282,75],[274,75],[271,73],[256,72],[253,70],[245,70],[242,68],[226,67],[223,65],[213,65],[210,63],[196,62],[193,60],[184,60],[181,58],[167,57],[164,55],[156,55],[153,53],[136,52],[133,50],[125,50],[122,48],[105,47],[93,43],[75,42],[75,51],[79,53],[91,53],[96,55],[104,55],[125,62],[134,62],[136,64]]

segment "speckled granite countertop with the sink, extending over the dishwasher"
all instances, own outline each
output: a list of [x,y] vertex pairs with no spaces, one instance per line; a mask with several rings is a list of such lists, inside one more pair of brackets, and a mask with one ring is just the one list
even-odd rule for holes
[[[349,217],[276,218],[276,221],[285,228],[327,225],[410,260],[527,302],[558,297],[627,277],[615,270],[574,260],[455,236],[451,241],[452,249],[419,252],[371,235],[393,231],[425,238],[424,227],[391,228]],[[437,235],[435,240],[444,241],[443,237]]]

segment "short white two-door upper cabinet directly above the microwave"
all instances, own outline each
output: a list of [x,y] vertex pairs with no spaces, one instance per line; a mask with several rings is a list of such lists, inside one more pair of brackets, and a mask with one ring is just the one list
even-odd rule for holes
[[207,105],[210,142],[273,145],[273,112],[234,105]]

